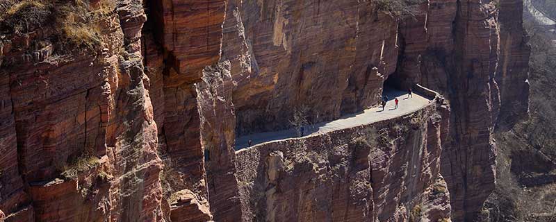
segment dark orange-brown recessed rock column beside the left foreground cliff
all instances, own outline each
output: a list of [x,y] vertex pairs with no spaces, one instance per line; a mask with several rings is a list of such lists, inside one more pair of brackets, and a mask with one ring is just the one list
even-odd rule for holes
[[[151,10],[143,38],[155,117],[161,130],[161,153],[168,167],[168,193],[190,189],[208,199],[200,117],[195,83],[202,70],[220,60],[223,0],[149,1]],[[149,33],[152,32],[152,33]],[[154,40],[153,40],[154,38]],[[161,63],[163,62],[163,64]]]

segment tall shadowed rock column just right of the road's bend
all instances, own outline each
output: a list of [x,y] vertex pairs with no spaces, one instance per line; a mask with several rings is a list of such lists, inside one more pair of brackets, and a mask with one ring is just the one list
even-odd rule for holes
[[[498,57],[498,26],[493,6],[478,1],[459,4],[455,20],[452,71],[451,144],[443,152],[442,175],[448,182],[452,218],[473,220],[494,189],[496,144],[494,110],[498,94],[491,78]],[[449,62],[450,64],[450,62]],[[452,166],[452,167],[449,167]],[[454,167],[460,166],[460,167]]]

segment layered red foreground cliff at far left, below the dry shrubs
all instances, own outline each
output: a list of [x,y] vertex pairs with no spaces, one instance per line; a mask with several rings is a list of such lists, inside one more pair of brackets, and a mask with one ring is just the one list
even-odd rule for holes
[[61,49],[56,27],[3,37],[6,221],[162,219],[162,163],[140,53],[146,17],[136,4],[106,6],[91,24],[101,30],[91,51]]

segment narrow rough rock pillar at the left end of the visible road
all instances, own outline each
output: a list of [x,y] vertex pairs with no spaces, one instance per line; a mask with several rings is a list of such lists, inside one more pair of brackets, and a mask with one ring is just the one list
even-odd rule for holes
[[206,67],[202,80],[197,85],[197,105],[211,212],[215,221],[241,221],[243,207],[236,178],[236,116],[231,102],[230,63]]

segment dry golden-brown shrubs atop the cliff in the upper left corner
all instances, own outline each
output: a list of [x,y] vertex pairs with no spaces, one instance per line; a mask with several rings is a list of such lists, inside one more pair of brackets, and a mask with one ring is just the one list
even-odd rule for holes
[[0,32],[26,35],[42,31],[52,42],[65,49],[98,49],[101,44],[99,23],[115,12],[115,1],[0,0]]

